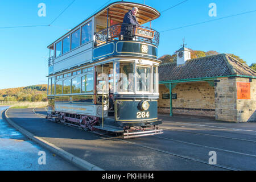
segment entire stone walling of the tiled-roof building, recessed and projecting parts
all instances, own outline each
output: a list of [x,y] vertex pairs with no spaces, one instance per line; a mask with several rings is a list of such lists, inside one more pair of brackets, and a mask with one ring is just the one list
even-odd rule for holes
[[[250,99],[237,98],[237,82],[250,83]],[[172,90],[177,99],[172,100],[172,113],[215,117],[219,121],[256,122],[256,79],[223,77],[208,82],[177,84]],[[170,99],[163,99],[169,89],[159,85],[158,112],[170,114]]]

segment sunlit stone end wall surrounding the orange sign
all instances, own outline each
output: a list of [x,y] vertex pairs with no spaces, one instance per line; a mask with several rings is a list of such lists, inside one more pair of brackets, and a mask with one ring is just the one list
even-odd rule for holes
[[237,99],[237,122],[256,122],[256,79],[237,77],[236,81],[250,83],[250,99]]

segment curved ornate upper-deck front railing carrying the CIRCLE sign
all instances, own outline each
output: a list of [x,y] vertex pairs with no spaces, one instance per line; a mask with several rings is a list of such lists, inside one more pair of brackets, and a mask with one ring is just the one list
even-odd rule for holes
[[95,33],[96,46],[115,40],[133,40],[159,45],[160,34],[152,28],[132,24],[115,24]]

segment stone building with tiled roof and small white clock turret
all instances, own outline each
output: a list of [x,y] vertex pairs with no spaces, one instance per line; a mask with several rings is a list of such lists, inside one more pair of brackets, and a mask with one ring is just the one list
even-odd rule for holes
[[177,63],[159,66],[158,112],[256,121],[256,72],[227,54],[190,58],[177,51]]

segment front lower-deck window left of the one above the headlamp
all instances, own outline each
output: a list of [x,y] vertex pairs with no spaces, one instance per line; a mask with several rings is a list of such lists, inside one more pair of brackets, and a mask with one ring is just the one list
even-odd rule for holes
[[115,62],[115,91],[134,92],[134,63]]

